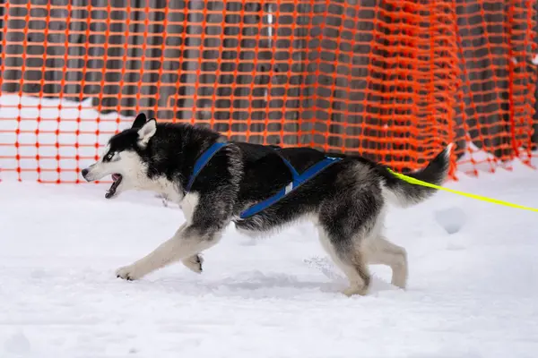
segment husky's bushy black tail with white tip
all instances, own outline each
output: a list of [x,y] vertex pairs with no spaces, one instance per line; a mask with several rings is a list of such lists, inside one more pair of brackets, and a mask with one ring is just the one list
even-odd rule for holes
[[[436,158],[433,158],[433,160],[430,161],[428,166],[405,175],[423,182],[441,185],[447,179],[450,166],[450,153],[453,148],[454,143],[449,144]],[[431,195],[437,192],[437,189],[407,183],[403,179],[388,172],[388,170],[385,169],[385,171],[386,172],[383,175],[385,178],[383,192],[389,202],[399,207],[405,208],[412,206],[413,204],[418,204],[419,202],[430,198]]]

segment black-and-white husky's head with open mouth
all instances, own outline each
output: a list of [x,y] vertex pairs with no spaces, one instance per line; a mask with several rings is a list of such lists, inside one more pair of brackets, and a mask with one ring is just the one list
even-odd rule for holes
[[112,175],[114,183],[108,189],[107,199],[116,197],[120,192],[129,189],[143,189],[147,181],[147,164],[143,160],[143,152],[153,135],[157,132],[155,119],[146,120],[141,114],[134,119],[133,126],[117,133],[110,140],[101,158],[91,166],[82,169],[86,181],[100,180]]

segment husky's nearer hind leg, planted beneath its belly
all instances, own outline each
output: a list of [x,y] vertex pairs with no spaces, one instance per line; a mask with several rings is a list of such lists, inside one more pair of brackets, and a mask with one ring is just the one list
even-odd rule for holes
[[323,227],[319,228],[319,239],[325,251],[350,281],[350,286],[343,290],[343,294],[368,294],[370,275],[359,245],[351,238],[328,234]]

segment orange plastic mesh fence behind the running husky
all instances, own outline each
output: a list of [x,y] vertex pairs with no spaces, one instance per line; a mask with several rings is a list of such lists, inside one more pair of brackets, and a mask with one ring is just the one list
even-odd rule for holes
[[[5,0],[0,178],[80,183],[145,112],[396,170],[528,162],[532,1]],[[456,159],[457,160],[456,162]]]

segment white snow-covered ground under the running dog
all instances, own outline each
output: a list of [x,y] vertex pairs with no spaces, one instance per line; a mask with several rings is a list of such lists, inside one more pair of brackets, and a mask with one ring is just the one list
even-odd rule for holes
[[[538,206],[538,173],[515,165],[447,186]],[[0,183],[0,357],[535,357],[538,214],[447,192],[391,209],[407,291],[373,266],[345,297],[312,226],[253,240],[230,227],[204,254],[140,281],[114,276],[183,221],[150,193],[104,184]],[[452,234],[448,234],[448,232]]]

